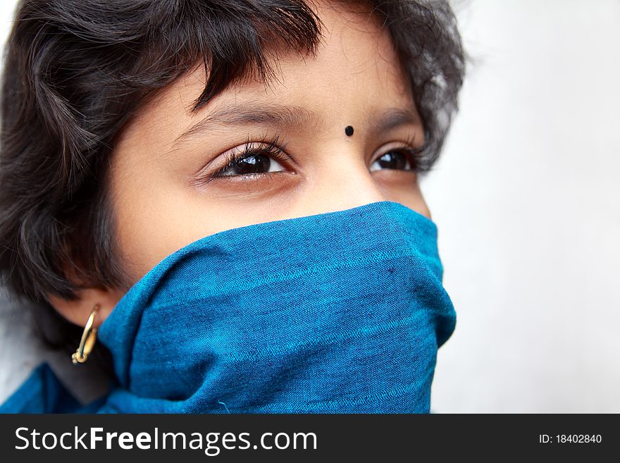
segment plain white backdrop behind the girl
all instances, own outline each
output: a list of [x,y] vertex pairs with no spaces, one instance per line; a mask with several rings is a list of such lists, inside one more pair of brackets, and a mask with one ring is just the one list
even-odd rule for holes
[[[422,182],[458,314],[433,412],[620,413],[620,1],[454,5],[473,62]],[[1,402],[43,353],[0,315]]]

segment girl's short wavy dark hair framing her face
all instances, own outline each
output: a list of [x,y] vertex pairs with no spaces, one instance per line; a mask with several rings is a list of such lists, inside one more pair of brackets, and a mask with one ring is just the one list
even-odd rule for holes
[[[457,109],[464,54],[447,1],[338,1],[383,19],[411,80],[428,171]],[[23,0],[4,56],[0,274],[18,297],[74,300],[128,288],[106,190],[114,142],[156,90],[197,62],[209,78],[194,109],[250,71],[273,77],[278,42],[316,52],[321,22],[303,0]],[[61,323],[62,324],[62,323]],[[56,340],[75,342],[80,328]],[[76,331],[77,328],[77,331]],[[73,331],[66,331],[73,329]],[[48,336],[49,338],[49,336]]]

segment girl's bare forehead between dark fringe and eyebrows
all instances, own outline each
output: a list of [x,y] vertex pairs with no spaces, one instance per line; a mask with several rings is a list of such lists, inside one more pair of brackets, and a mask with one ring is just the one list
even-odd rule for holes
[[[206,83],[202,63],[173,82],[137,114],[137,125],[147,123],[152,133],[166,124],[180,131],[213,109],[278,102],[321,115],[312,128],[342,123],[343,115],[360,111],[380,112],[383,107],[411,106],[409,84],[383,19],[364,5],[330,2],[313,4],[321,19],[321,44],[315,56],[299,56],[283,47],[268,49],[273,78],[261,81],[256,73],[233,83],[192,111]],[[345,124],[346,125],[346,124]],[[343,125],[344,127],[344,125]]]

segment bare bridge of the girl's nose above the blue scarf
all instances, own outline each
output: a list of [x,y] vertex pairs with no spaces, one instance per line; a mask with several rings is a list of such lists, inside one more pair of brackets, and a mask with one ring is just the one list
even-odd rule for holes
[[353,145],[321,157],[330,160],[318,163],[306,180],[305,214],[343,211],[387,199],[368,171],[364,156]]

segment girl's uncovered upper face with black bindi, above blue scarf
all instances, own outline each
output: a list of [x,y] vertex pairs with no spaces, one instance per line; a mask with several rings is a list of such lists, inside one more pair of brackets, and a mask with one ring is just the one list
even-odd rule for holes
[[[423,144],[423,126],[388,32],[366,12],[316,8],[325,25],[316,58],[280,54],[277,80],[248,79],[192,113],[206,80],[198,66],[123,131],[108,180],[131,283],[230,228],[385,199],[430,218],[407,152]],[[227,167],[233,155],[242,159]],[[99,302],[101,323],[127,289],[52,302],[78,324]]]

